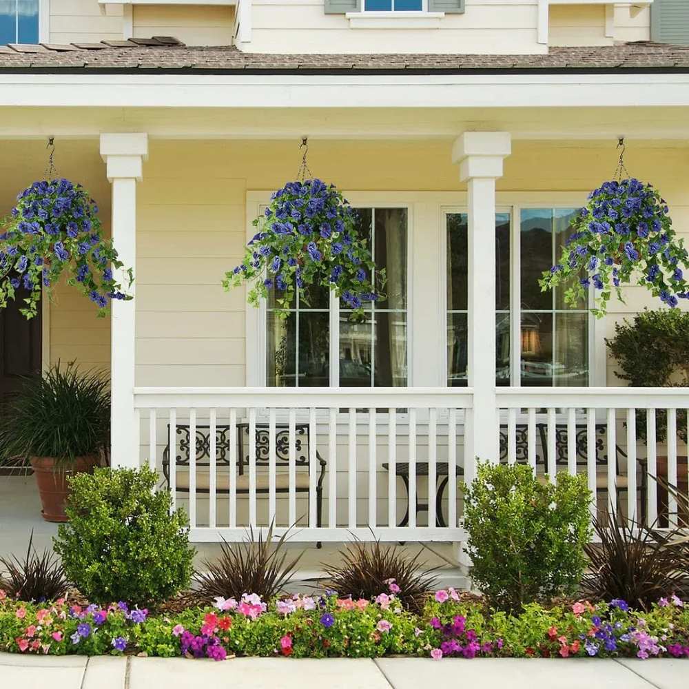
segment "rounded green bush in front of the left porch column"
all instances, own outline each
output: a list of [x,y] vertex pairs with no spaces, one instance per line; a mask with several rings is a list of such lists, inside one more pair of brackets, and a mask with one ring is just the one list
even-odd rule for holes
[[155,604],[189,586],[194,548],[187,517],[144,467],[96,469],[70,480],[54,546],[65,573],[93,601]]

